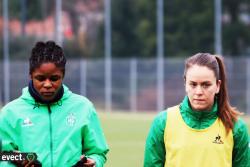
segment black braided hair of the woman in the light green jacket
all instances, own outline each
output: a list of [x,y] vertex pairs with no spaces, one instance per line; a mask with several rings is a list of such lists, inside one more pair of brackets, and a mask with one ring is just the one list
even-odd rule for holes
[[62,70],[64,75],[66,57],[64,56],[62,47],[57,45],[54,41],[37,42],[32,48],[29,58],[30,75],[43,63],[54,63],[56,67],[59,67]]

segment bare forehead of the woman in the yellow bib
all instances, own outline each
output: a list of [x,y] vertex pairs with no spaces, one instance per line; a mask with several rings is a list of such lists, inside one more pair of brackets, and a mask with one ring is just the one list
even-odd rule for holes
[[210,81],[216,80],[213,70],[206,66],[193,65],[187,69],[186,79],[192,81]]

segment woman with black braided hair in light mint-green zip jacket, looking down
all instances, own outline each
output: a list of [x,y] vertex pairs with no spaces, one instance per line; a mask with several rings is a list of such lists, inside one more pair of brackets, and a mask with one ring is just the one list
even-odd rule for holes
[[80,166],[102,167],[109,149],[97,113],[87,98],[63,85],[62,48],[37,42],[29,63],[28,87],[0,113],[1,151],[36,153],[38,161],[5,165],[71,167],[86,157]]

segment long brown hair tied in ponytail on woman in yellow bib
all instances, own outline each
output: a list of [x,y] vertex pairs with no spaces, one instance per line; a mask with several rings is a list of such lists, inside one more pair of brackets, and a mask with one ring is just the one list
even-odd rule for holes
[[222,57],[211,55],[210,53],[197,53],[185,61],[184,79],[187,70],[193,66],[206,66],[211,69],[217,80],[221,80],[220,91],[218,93],[218,117],[226,127],[227,132],[233,129],[234,123],[239,115],[242,115],[236,108],[232,107],[229,102],[226,71]]

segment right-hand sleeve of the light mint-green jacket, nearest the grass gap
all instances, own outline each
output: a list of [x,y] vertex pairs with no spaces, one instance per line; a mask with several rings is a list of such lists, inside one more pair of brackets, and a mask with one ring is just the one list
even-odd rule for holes
[[96,162],[96,167],[104,166],[107,146],[95,108],[91,106],[87,125],[83,128],[83,152]]

